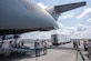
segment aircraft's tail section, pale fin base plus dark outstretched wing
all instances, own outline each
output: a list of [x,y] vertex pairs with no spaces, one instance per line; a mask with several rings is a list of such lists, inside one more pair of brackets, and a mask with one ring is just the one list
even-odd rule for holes
[[57,20],[60,13],[80,8],[85,6],[85,1],[83,2],[77,2],[77,3],[69,3],[69,4],[62,4],[62,6],[54,6],[53,8],[48,8],[47,11]]

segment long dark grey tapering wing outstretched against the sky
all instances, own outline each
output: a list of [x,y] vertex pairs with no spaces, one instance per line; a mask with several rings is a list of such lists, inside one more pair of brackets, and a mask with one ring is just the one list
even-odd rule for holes
[[63,6],[55,6],[55,10],[58,12],[65,12],[65,11],[69,11],[69,10],[72,10],[72,9],[75,9],[75,8],[79,8],[79,7],[83,7],[85,6],[85,2],[77,2],[77,3],[70,3],[70,4],[63,4]]

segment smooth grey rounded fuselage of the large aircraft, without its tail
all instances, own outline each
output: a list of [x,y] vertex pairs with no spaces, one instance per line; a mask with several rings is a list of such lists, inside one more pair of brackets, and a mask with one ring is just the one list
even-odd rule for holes
[[0,30],[53,30],[54,19],[44,10],[30,3],[30,10],[18,0],[0,1]]

